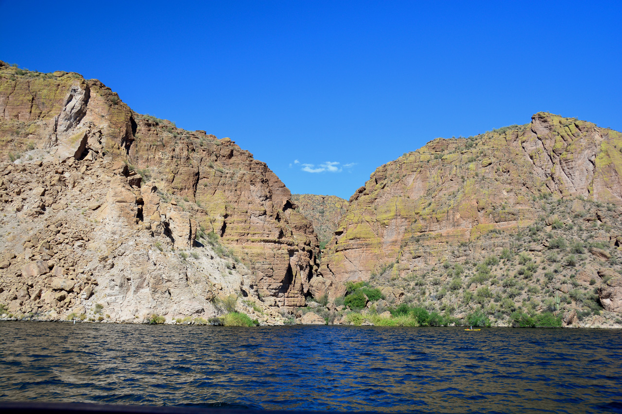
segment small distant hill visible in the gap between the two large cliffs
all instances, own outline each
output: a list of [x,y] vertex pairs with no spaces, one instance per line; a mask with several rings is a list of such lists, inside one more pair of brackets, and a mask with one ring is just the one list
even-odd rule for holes
[[348,209],[348,201],[338,196],[292,194],[292,201],[300,214],[313,224],[322,248],[335,235],[337,223]]

